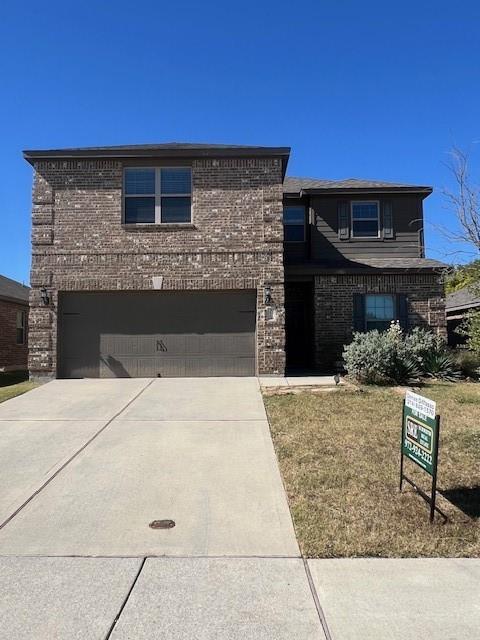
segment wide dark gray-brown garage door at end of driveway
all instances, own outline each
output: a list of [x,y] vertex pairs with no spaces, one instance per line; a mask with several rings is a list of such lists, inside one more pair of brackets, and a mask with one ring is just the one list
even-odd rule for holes
[[255,375],[255,292],[63,293],[65,378]]

